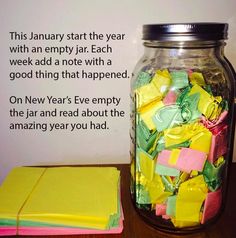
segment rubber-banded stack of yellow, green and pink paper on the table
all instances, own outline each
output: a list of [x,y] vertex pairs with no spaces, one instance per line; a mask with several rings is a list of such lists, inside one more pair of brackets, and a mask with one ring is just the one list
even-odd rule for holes
[[18,167],[0,186],[0,235],[120,233],[114,167]]

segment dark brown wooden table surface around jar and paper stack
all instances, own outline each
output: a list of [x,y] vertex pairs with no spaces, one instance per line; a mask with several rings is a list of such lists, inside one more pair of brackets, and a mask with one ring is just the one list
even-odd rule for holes
[[[136,213],[129,191],[130,175],[129,165],[112,165],[117,167],[121,171],[121,200],[124,209],[124,229],[121,234],[109,234],[109,235],[65,235],[65,236],[53,236],[60,238],[236,238],[236,163],[231,165],[230,168],[230,180],[228,196],[226,200],[226,207],[217,220],[217,222],[207,229],[190,235],[170,235],[160,232],[153,227],[146,224]],[[12,236],[11,236],[12,237]],[[22,236],[21,236],[22,237]],[[49,238],[52,236],[28,236]]]

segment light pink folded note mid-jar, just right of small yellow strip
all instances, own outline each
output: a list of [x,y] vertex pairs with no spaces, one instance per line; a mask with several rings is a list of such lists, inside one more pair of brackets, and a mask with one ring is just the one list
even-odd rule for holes
[[207,154],[205,152],[182,148],[175,166],[187,173],[190,173],[191,170],[202,171],[206,158]]

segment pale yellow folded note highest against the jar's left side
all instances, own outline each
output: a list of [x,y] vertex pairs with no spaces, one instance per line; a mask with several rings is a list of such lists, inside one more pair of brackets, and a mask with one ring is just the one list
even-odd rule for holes
[[162,93],[154,83],[146,84],[135,90],[137,98],[137,108],[141,108],[153,101],[160,101]]

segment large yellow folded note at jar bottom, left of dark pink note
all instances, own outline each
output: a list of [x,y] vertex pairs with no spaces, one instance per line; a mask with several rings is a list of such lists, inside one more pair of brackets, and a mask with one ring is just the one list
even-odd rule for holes
[[200,209],[207,196],[203,175],[182,183],[176,199],[176,222],[200,222]]

